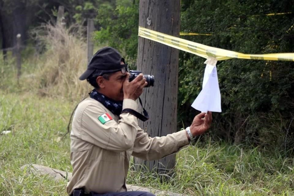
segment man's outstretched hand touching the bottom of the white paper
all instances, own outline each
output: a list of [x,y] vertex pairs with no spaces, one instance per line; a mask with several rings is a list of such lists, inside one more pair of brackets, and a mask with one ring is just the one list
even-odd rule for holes
[[211,111],[200,113],[194,117],[194,120],[190,126],[190,131],[193,137],[203,134],[210,127],[212,121]]

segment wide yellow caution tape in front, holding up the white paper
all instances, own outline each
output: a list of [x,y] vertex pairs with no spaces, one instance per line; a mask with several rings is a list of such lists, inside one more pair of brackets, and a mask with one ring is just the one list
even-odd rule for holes
[[153,40],[179,50],[190,52],[203,58],[215,57],[218,61],[230,58],[271,60],[271,61],[294,61],[294,53],[275,53],[264,55],[249,55],[239,52],[224,50],[220,48],[206,46],[200,43],[191,42],[164,33],[156,32],[147,28],[139,27],[140,37]]

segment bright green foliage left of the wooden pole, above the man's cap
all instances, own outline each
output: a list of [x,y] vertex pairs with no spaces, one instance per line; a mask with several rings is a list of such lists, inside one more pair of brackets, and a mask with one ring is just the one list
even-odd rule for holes
[[131,69],[136,67],[138,47],[139,0],[120,0],[115,5],[101,4],[96,21],[100,29],[94,33],[99,44],[118,49]]

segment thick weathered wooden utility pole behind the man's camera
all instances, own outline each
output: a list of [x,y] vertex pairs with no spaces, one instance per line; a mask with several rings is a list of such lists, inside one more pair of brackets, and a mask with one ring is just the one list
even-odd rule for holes
[[[172,36],[179,36],[179,0],[140,0],[139,26]],[[144,89],[141,99],[150,119],[140,122],[150,137],[165,136],[177,131],[177,93],[179,50],[139,37],[137,69],[154,75],[154,87]],[[144,161],[135,158],[135,164],[144,164],[157,173],[175,166],[175,155],[160,160]]]

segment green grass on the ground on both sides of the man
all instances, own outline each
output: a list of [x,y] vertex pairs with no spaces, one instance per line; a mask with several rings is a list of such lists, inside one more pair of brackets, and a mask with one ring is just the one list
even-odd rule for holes
[[[72,171],[70,138],[60,137],[75,103],[32,93],[0,94],[0,195],[66,195],[66,181],[21,171],[25,164]],[[133,165],[131,165],[133,168]],[[214,141],[177,154],[169,182],[130,170],[128,184],[187,195],[294,195],[294,159],[280,152],[242,148]]]

